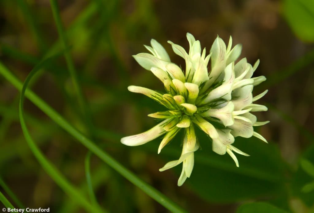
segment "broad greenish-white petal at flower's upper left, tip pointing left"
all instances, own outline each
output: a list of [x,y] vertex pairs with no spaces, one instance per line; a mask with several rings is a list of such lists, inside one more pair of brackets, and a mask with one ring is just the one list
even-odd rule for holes
[[165,70],[166,65],[169,64],[169,62],[163,61],[149,53],[139,53],[133,57],[138,62],[138,64],[146,70],[150,70],[152,67],[158,67]]

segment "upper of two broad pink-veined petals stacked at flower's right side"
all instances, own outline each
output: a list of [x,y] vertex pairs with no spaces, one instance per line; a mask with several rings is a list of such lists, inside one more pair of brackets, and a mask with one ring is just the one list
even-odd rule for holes
[[232,97],[237,99],[232,100],[232,103],[235,106],[235,111],[242,110],[244,107],[252,104],[252,85],[247,85],[242,88],[238,88],[236,91],[231,93]]

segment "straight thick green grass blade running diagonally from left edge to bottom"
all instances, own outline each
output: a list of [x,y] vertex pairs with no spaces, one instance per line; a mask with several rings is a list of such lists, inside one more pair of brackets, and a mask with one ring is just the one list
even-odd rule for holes
[[[0,62],[0,73],[19,90],[22,90],[23,84],[17,79],[3,64]],[[25,84],[24,86],[27,86]],[[41,109],[45,114],[47,114],[52,120],[54,120],[58,125],[60,125],[64,130],[71,134],[74,138],[80,141],[85,147],[87,147],[91,152],[98,156],[101,160],[106,162],[110,167],[120,173],[123,177],[127,178],[131,183],[136,185],[138,188],[142,189],[146,194],[156,200],[158,203],[163,205],[165,208],[171,212],[185,212],[177,204],[167,198],[164,194],[160,193],[158,190],[154,189],[149,184],[145,183],[143,180],[138,178],[135,174],[129,171],[127,168],[123,167],[119,162],[112,158],[105,151],[101,150],[92,141],[90,141],[86,136],[76,130],[72,125],[70,125],[60,114],[58,114],[54,109],[52,109],[46,102],[39,98],[35,93],[30,90],[25,91],[25,96],[30,99],[39,109]]]

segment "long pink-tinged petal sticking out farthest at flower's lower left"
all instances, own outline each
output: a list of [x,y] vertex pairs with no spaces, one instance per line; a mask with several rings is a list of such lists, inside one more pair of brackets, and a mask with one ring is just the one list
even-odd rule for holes
[[162,126],[168,121],[169,119],[164,120],[160,124],[154,126],[150,130],[147,130],[146,132],[143,132],[141,134],[123,137],[121,138],[121,143],[127,146],[138,146],[149,141],[152,141],[166,133]]

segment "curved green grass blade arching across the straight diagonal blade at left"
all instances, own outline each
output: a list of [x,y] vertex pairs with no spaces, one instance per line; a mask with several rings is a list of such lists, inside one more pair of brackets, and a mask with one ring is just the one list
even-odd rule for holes
[[51,60],[51,58],[41,61],[37,66],[34,67],[34,69],[30,72],[28,77],[25,80],[25,83],[21,90],[21,96],[20,96],[20,102],[19,102],[19,117],[20,117],[20,123],[21,127],[24,133],[24,137],[31,149],[31,151],[34,153],[35,157],[37,158],[38,162],[41,164],[41,166],[46,170],[46,172],[50,175],[50,177],[73,199],[77,201],[79,205],[82,205],[82,207],[89,211],[89,212],[103,212],[98,206],[93,206],[91,203],[89,203],[84,196],[81,195],[81,193],[75,189],[65,177],[55,168],[42,154],[38,146],[33,141],[32,137],[30,136],[30,133],[27,129],[25,120],[24,120],[24,94],[26,87],[28,83],[31,80],[31,77],[34,76],[34,74],[41,69],[41,67],[48,63]]

